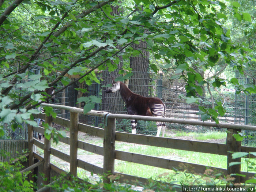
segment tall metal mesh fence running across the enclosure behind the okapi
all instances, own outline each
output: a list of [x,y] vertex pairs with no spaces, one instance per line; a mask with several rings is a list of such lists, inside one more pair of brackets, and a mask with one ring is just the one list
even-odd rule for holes
[[[38,69],[33,69],[34,72],[38,72]],[[168,118],[181,118],[186,120],[198,120],[200,121],[200,115],[198,114],[199,108],[195,104],[187,104],[184,97],[186,95],[182,82],[176,84],[176,86],[168,86],[169,88],[163,88],[163,78],[161,74],[147,73],[145,72],[133,72],[133,76],[129,81],[125,82],[129,89],[134,93],[144,95],[145,97],[159,97],[166,105],[166,117]],[[256,71],[248,71],[246,77],[236,72],[236,78],[240,84],[255,84]],[[145,79],[147,76],[148,79]],[[143,84],[142,84],[143,83]],[[125,104],[119,93],[110,93],[108,95],[103,94],[106,90],[106,86],[109,83],[101,82],[101,84],[93,83],[87,86],[88,93],[85,96],[95,95],[102,98],[101,103],[95,103],[95,110],[105,110],[110,113],[121,113],[127,114]],[[54,104],[77,106],[76,100],[78,97],[79,85],[73,85],[67,87],[62,92],[56,94]],[[62,85],[57,86],[57,89],[63,87]],[[205,88],[206,89],[206,88]],[[212,90],[213,91],[213,90]],[[219,117],[219,121],[223,123],[235,123],[235,124],[247,124],[256,125],[256,94],[246,95],[245,93],[235,94],[235,90],[219,90],[223,94],[228,95],[225,100],[223,107],[227,113],[223,117]],[[20,93],[25,94],[25,93]],[[105,97],[105,98],[104,98]],[[200,105],[211,108],[212,101],[209,96],[202,97],[203,102]],[[83,104],[79,107],[83,108]],[[70,118],[70,113],[65,110],[55,110],[58,116],[63,118]],[[80,119],[80,118],[79,118]],[[81,118],[83,119],[83,118]],[[99,117],[84,117],[83,123],[94,125],[96,127],[103,127],[102,118]],[[131,126],[129,120],[117,120],[117,130],[129,130],[131,132]],[[23,128],[12,131],[10,126],[5,125],[5,138],[9,139],[27,139],[27,127],[24,125]],[[154,122],[139,121],[137,126],[137,132],[141,134],[155,135],[157,128]],[[182,130],[186,132],[204,132],[209,129],[222,130],[210,127],[200,127],[193,125],[181,125],[181,124],[167,124],[168,129]],[[248,137],[245,139],[244,144],[255,143],[256,133],[253,131],[244,132]],[[3,139],[3,138],[0,138]]]

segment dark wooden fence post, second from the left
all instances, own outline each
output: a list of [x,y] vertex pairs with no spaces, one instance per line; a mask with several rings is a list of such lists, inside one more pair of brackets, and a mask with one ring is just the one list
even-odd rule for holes
[[[52,116],[47,117],[45,115],[45,123],[48,123],[49,126],[52,125]],[[44,143],[44,185],[47,185],[50,183],[50,155],[51,155],[51,139],[50,140],[45,138]]]

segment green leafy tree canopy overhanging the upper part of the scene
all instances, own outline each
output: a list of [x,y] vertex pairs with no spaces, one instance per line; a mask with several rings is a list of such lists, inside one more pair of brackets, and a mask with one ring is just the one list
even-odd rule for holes
[[[255,85],[242,86],[212,70],[225,63],[243,73],[255,63],[251,43],[255,38],[254,12],[244,10],[244,4],[252,5],[246,0],[23,1],[0,22],[0,134],[3,123],[31,123],[34,112],[29,110],[48,98],[42,95],[47,87],[99,82],[94,70],[114,71],[120,62],[118,56],[123,56],[124,63],[119,70],[130,70],[129,57],[141,53],[131,45],[139,41],[147,43],[154,57],[150,62],[153,71],[171,70],[171,80],[184,79],[189,103],[204,94],[201,86],[206,83],[217,88],[230,83],[238,92],[255,93]],[[111,14],[111,5],[118,5],[122,12]],[[3,1],[0,12],[9,6],[11,1]],[[234,38],[230,20],[242,26],[239,29],[245,35],[240,35],[239,41]],[[205,78],[200,72],[206,70],[214,75]],[[71,80],[67,74],[80,78]],[[89,100],[84,112],[97,102]],[[200,113],[203,120],[211,117],[218,123],[225,110],[218,105],[215,109],[201,108]]]

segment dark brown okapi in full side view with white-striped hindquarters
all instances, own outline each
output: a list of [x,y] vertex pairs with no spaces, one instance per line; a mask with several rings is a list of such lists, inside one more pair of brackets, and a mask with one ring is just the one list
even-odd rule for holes
[[[115,82],[112,77],[112,87],[106,90],[106,93],[115,93],[119,90],[123,98],[128,114],[141,116],[165,117],[165,104],[157,97],[143,97],[133,93],[123,82]],[[157,136],[160,135],[163,128],[162,137],[165,135],[165,123],[156,122]],[[136,134],[137,120],[131,120],[132,133]]]

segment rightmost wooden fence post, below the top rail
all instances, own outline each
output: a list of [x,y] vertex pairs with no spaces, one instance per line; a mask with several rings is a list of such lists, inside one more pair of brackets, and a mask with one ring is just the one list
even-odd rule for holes
[[[233,134],[237,134],[241,132],[241,129],[227,129],[227,174],[238,173],[241,174],[241,164],[229,166],[231,162],[241,162],[241,158],[232,159],[232,153],[230,152],[241,152],[241,142],[237,142],[233,137]],[[234,183],[240,183],[240,176],[232,176],[235,177]]]

